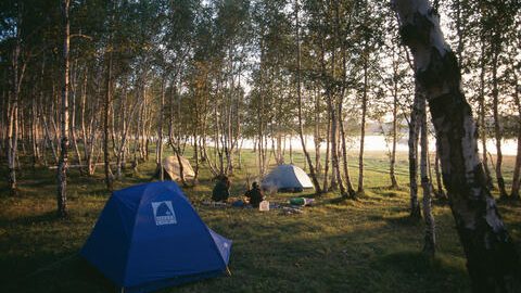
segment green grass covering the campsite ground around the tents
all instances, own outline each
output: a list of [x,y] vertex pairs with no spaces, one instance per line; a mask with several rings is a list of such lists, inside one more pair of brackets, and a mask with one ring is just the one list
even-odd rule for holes
[[[232,178],[232,194],[245,189],[245,170],[254,173],[254,154]],[[352,174],[356,182],[355,160]],[[507,157],[506,170],[512,158]],[[303,157],[295,154],[303,166]],[[161,292],[470,292],[466,259],[446,205],[435,204],[437,251],[421,254],[423,224],[408,219],[406,154],[398,156],[401,190],[389,190],[383,153],[366,158],[366,192],[358,201],[338,201],[336,193],[317,199],[303,214],[260,213],[202,205],[213,187],[203,168],[201,184],[186,189],[203,220],[233,240],[232,277],[215,278]],[[150,181],[154,163],[125,173],[116,189]],[[2,175],[5,170],[2,168]],[[510,171],[506,173],[507,182]],[[103,276],[77,256],[109,198],[101,169],[92,177],[69,171],[71,217],[56,219],[55,175],[25,169],[20,193],[9,196],[0,182],[0,292],[116,292]],[[307,195],[310,195],[309,193]],[[270,195],[285,202],[294,194]],[[500,203],[512,237],[521,240],[521,208]]]

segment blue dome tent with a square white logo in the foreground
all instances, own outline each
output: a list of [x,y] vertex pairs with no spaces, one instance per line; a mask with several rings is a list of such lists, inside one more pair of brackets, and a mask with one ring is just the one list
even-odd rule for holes
[[223,275],[230,249],[164,181],[115,191],[80,254],[123,292],[150,292]]

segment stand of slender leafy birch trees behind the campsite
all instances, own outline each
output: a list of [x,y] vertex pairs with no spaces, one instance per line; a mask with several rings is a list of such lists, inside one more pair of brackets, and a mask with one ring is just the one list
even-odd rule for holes
[[[521,182],[521,148],[511,182],[504,179],[501,152],[504,139],[518,138],[521,145],[521,4],[434,4],[421,17],[432,23],[440,12],[459,63],[447,69],[452,81],[440,79],[441,73],[429,80],[437,86],[460,80],[475,109],[459,114],[462,119],[473,115],[479,138],[458,152],[471,155],[472,164],[481,158],[483,173],[472,184],[494,214],[487,190],[497,188],[501,199],[517,200]],[[404,40],[404,30],[414,26],[407,15],[418,8],[424,14],[427,5],[420,0],[396,1],[394,10],[376,0],[1,1],[0,153],[5,180],[16,194],[24,168],[58,168],[58,209],[65,216],[69,168],[79,168],[82,176],[103,168],[112,190],[124,170],[137,171],[152,156],[163,179],[165,149],[179,161],[190,149],[195,183],[203,165],[214,176],[238,168],[263,176],[270,164],[293,163],[292,138],[298,138],[303,167],[317,194],[356,199],[365,190],[365,137],[373,131],[368,125],[379,125],[389,146],[392,189],[405,186],[396,179],[396,145],[408,132],[410,215],[425,219],[424,251],[435,251],[431,201],[448,195],[469,271],[479,280],[486,273],[472,259],[486,252],[476,243],[491,231],[462,228],[467,216],[479,217],[472,211],[459,214],[468,193],[454,189],[462,180],[454,176],[465,170],[447,173],[456,158],[454,141],[447,142],[441,130],[447,127],[440,125],[441,110],[431,101],[439,93],[420,78],[424,61],[418,59],[416,44]],[[454,65],[440,54],[443,66]],[[461,133],[469,133],[465,127]],[[436,140],[434,153],[429,153],[429,138]],[[496,157],[487,149],[491,138]],[[249,142],[255,166],[242,161]],[[290,162],[284,162],[288,153]],[[188,184],[182,171],[181,181]],[[492,232],[503,231],[494,227]],[[493,245],[495,253],[503,252],[501,245]],[[483,285],[492,285],[488,277]]]

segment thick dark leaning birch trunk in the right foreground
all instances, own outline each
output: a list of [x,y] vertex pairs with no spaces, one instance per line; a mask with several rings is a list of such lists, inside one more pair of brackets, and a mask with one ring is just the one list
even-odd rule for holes
[[460,88],[454,52],[427,0],[392,1],[403,41],[411,48],[416,78],[427,92],[444,183],[474,292],[520,292],[521,262],[486,187],[475,125]]

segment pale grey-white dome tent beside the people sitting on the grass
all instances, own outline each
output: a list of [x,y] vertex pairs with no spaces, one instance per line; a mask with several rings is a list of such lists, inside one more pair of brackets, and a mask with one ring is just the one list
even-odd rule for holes
[[302,191],[305,188],[314,188],[307,174],[294,165],[280,165],[271,170],[262,181],[264,190],[277,191]]

